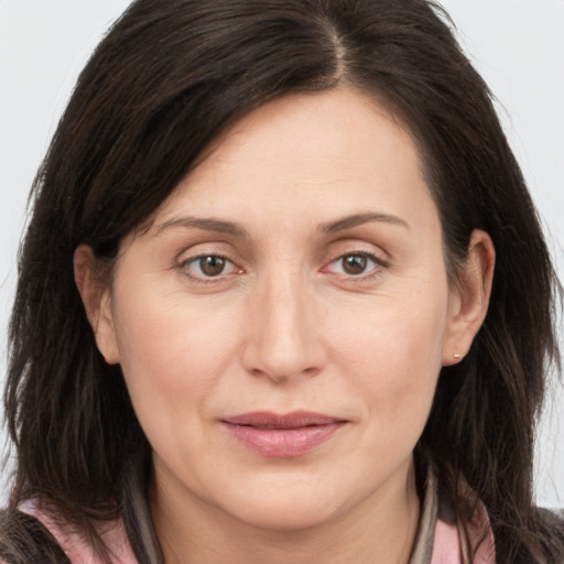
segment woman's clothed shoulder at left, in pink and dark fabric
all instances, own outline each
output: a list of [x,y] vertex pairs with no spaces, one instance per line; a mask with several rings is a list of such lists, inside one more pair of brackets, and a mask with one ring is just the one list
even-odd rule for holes
[[[65,522],[37,501],[22,503],[19,510],[6,511],[3,516],[4,523],[0,525],[4,531],[0,533],[0,555],[7,564],[137,564],[120,520],[96,525],[109,555],[104,558],[76,527]],[[7,556],[2,552],[2,543],[7,546]],[[9,551],[14,550],[12,555]],[[30,553],[32,556],[29,556]],[[23,556],[20,557],[20,554]]]

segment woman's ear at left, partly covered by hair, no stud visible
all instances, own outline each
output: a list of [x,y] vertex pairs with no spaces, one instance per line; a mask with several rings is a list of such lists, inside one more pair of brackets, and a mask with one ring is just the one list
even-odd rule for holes
[[74,254],[75,283],[86,310],[96,338],[96,345],[106,362],[116,365],[120,361],[116,339],[116,327],[111,311],[110,288],[101,284],[96,275],[96,257],[87,245],[80,245]]

